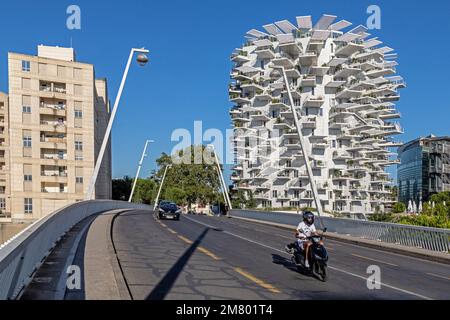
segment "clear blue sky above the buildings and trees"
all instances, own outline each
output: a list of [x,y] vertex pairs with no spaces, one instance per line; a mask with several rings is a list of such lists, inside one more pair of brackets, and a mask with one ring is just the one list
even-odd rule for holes
[[[82,10],[82,29],[66,28],[66,8]],[[334,14],[365,24],[366,9],[381,8],[381,30],[372,30],[399,54],[408,87],[398,109],[402,141],[430,133],[448,135],[450,2],[429,1],[4,1],[0,11],[0,90],[7,91],[7,52],[36,53],[38,44],[70,46],[109,81],[114,101],[131,47],[151,50],[150,64],[134,65],[113,129],[113,175],[134,175],[146,138],[156,140],[143,169],[170,152],[176,128],[230,127],[227,84],[232,50],[245,32],[299,15]]]

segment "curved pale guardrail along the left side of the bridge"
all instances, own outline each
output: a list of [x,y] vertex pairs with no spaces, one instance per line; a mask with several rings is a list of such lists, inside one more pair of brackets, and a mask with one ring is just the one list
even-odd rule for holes
[[123,201],[83,201],[43,217],[0,245],[0,300],[16,299],[31,281],[59,239],[75,224],[93,214],[115,209],[151,206]]

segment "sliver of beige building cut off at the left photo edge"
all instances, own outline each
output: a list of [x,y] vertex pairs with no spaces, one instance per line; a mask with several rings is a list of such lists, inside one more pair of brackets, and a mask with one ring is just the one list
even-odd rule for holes
[[0,92],[0,221],[11,216],[9,199],[8,95]]

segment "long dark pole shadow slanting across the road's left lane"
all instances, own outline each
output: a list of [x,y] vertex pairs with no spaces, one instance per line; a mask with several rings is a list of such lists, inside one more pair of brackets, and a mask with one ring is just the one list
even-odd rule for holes
[[188,263],[191,256],[194,254],[197,247],[202,242],[203,238],[208,233],[209,228],[206,228],[191,244],[191,246],[185,251],[185,253],[177,260],[177,262],[170,268],[166,273],[164,278],[156,285],[156,287],[150,292],[150,294],[145,298],[145,300],[163,300],[169,293],[170,289],[173,287],[175,281],[177,280],[183,268]]

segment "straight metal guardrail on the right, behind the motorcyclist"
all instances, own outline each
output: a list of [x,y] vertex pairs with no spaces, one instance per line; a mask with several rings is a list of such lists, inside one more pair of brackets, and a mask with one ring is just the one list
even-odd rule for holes
[[[299,214],[283,212],[231,210],[229,215],[289,225],[293,228],[301,220]],[[450,229],[331,217],[321,217],[320,219],[328,232],[430,251],[445,253],[449,253],[450,251]],[[319,227],[320,223],[316,223],[316,226]]]

